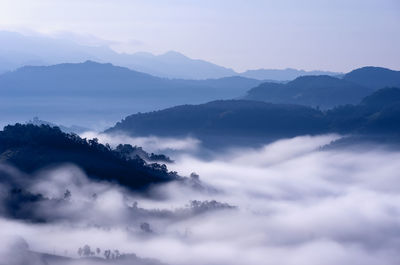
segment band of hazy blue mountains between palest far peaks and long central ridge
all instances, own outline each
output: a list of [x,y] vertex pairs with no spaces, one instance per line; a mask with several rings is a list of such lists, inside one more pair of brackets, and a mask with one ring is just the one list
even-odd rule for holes
[[[110,63],[86,61],[25,66],[0,75],[0,110],[15,123],[39,116],[58,124],[104,129],[121,117],[182,104],[245,99],[321,109],[358,104],[386,86],[400,87],[400,71],[364,67],[342,78],[317,75],[262,82],[241,76],[186,80],[152,76]],[[4,125],[5,125],[4,124]]]

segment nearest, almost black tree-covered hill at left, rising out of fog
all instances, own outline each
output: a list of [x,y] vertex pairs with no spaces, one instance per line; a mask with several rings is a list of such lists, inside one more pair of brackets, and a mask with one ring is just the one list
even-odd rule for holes
[[134,190],[179,179],[165,165],[147,164],[140,157],[125,153],[112,150],[96,139],[87,141],[47,125],[16,124],[0,131],[0,162],[28,173],[72,163],[90,178],[117,182]]

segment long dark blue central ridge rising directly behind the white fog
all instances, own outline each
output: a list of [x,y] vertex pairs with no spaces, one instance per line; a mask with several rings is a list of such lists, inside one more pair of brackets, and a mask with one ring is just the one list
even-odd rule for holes
[[323,113],[310,107],[226,100],[130,115],[106,133],[192,136],[216,147],[327,131]]

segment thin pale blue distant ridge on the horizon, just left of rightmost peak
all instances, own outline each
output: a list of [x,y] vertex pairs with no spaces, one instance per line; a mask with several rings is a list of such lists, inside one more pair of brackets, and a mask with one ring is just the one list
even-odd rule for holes
[[286,69],[257,69],[247,70],[240,73],[240,76],[254,78],[258,80],[290,81],[304,75],[329,75],[339,77],[342,73],[329,71],[304,71],[292,68]]

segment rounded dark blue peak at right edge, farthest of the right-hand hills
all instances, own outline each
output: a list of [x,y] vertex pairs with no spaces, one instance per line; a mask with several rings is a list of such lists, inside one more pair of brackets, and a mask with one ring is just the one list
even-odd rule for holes
[[368,87],[380,89],[383,87],[400,87],[400,71],[394,71],[382,67],[362,67],[347,73],[344,80]]

